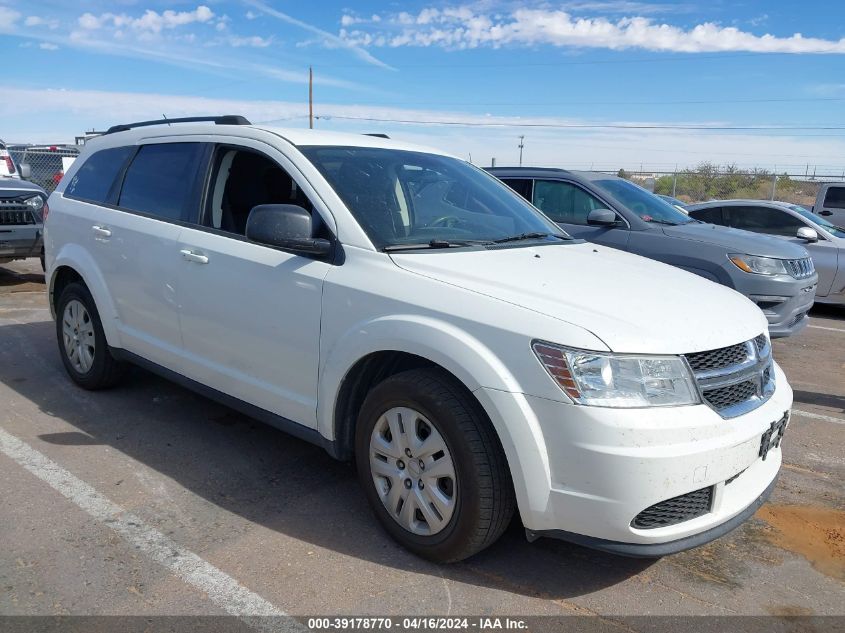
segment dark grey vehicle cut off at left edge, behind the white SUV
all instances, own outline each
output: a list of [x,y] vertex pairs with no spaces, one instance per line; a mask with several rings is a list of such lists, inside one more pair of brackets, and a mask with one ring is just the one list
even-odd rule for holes
[[19,178],[0,177],[0,264],[27,257],[44,266],[47,192]]

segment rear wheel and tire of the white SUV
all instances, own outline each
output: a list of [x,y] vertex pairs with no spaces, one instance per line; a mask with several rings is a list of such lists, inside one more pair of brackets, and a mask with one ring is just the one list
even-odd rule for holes
[[79,282],[65,286],[56,305],[56,338],[62,364],[83,389],[116,385],[126,366],[109,351],[94,298]]

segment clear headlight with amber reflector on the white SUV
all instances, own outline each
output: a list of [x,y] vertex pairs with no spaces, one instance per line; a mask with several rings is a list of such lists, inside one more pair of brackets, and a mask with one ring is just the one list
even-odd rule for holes
[[640,408],[698,404],[693,376],[679,356],[628,356],[531,345],[549,375],[578,404]]

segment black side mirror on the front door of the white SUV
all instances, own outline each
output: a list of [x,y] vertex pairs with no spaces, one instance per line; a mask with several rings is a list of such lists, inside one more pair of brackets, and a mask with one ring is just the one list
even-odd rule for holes
[[246,220],[246,238],[252,242],[305,255],[328,255],[332,243],[312,237],[312,231],[311,214],[295,204],[260,204]]

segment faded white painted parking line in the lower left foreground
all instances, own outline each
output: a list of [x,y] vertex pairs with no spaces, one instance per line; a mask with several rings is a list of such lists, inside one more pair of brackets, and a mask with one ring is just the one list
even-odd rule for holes
[[[286,614],[197,554],[178,545],[139,517],[107,499],[95,488],[59,466],[29,444],[0,428],[0,452],[61,493],[104,526],[117,532],[148,558],[205,593],[226,613],[257,628],[298,628],[276,618]],[[259,619],[258,616],[276,616]]]

